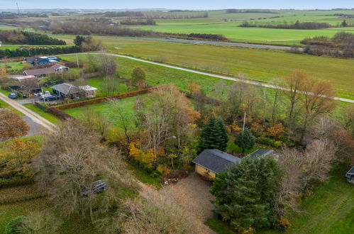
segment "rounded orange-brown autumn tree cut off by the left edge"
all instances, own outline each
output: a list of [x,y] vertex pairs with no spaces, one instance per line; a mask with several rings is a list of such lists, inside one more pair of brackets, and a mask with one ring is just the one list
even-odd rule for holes
[[9,140],[26,135],[30,130],[21,116],[9,109],[0,110],[0,139]]

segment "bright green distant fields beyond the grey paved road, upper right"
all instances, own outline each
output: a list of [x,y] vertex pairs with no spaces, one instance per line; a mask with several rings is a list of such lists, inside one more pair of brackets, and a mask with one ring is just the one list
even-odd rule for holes
[[[248,43],[272,43],[292,45],[306,37],[318,35],[333,36],[339,30],[353,32],[353,28],[329,28],[319,30],[292,30],[276,28],[240,28],[242,21],[250,21],[253,24],[280,24],[300,22],[329,23],[338,27],[343,22],[335,13],[354,14],[354,11],[294,11],[294,10],[270,10],[273,13],[226,13],[226,11],[208,11],[208,18],[177,18],[158,19],[156,26],[140,26],[145,30],[155,30],[165,33],[212,33],[222,34],[226,38],[238,42]],[[160,16],[197,16],[206,11],[154,13]],[[274,18],[278,17],[278,18]],[[354,18],[345,19],[348,23],[354,23]]]

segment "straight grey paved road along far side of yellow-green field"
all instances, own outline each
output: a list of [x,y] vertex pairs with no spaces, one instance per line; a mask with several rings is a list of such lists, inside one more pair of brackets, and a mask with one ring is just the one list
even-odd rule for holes
[[[197,44],[208,44],[208,45],[228,45],[228,46],[238,46],[238,47],[248,47],[248,48],[263,48],[263,49],[275,49],[275,50],[290,50],[290,46],[282,45],[262,45],[262,44],[250,44],[250,43],[228,43],[222,41],[211,41],[211,40],[186,40],[186,39],[166,39],[166,38],[138,38],[138,37],[116,37],[109,35],[100,35],[95,37],[103,38],[123,38],[123,39],[135,39],[135,40],[159,40],[167,41],[171,43],[197,43]],[[299,50],[303,50],[299,48]]]

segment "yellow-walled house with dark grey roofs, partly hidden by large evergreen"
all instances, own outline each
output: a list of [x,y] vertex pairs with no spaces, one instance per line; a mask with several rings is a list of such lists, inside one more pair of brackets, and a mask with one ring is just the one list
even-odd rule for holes
[[[256,159],[267,155],[275,155],[274,150],[255,150],[246,157]],[[226,171],[235,163],[240,163],[241,159],[221,150],[203,150],[192,162],[195,164],[195,172],[207,179],[214,179],[219,172]]]

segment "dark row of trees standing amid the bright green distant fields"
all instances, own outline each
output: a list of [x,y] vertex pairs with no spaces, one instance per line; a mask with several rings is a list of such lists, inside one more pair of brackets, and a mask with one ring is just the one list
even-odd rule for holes
[[249,23],[248,21],[243,21],[240,24],[240,27],[244,28],[283,28],[283,29],[319,29],[319,28],[331,28],[329,23],[318,23],[318,22],[299,22],[296,21],[295,23],[268,23],[268,24],[257,24],[257,23]]

